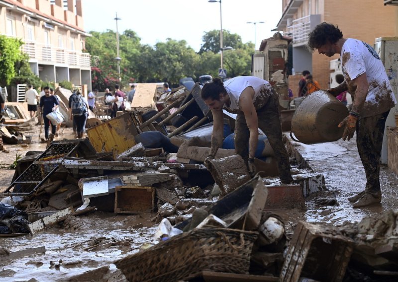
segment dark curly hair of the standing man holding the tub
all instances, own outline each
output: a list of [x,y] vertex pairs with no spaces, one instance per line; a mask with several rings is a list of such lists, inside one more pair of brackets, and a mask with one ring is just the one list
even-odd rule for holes
[[322,22],[315,26],[308,34],[308,49],[314,51],[327,43],[334,44],[343,38],[343,33],[337,26],[331,23]]

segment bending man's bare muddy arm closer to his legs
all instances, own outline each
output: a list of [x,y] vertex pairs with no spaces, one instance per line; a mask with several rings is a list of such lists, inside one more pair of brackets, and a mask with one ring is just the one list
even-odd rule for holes
[[257,112],[253,104],[254,90],[251,87],[247,87],[243,90],[239,98],[239,108],[245,115],[246,124],[249,128],[249,159],[254,158],[254,152],[257,148],[258,142],[258,118]]

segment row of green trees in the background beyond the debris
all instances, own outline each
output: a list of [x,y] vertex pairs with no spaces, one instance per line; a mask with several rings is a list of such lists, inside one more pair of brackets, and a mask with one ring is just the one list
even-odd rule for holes
[[[200,75],[218,76],[220,68],[219,31],[205,32],[203,45],[198,53],[185,40],[168,38],[155,46],[140,44],[140,38],[132,30],[119,35],[120,77],[117,71],[116,33],[112,30],[91,32],[86,38],[87,51],[93,56],[93,88],[103,91],[113,89],[114,84],[126,87],[131,82],[163,82],[178,85],[182,77],[195,80]],[[224,51],[224,68],[228,76],[248,75],[251,68],[252,43],[242,43],[237,34],[223,31],[224,46],[233,50]]]

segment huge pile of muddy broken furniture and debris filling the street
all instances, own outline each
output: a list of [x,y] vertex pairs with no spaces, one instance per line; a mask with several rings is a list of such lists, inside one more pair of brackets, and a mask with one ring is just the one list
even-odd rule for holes
[[[305,198],[326,191],[323,175],[290,146],[295,183],[282,184],[274,152],[262,135],[255,161],[260,172],[250,177],[231,146],[230,114],[224,116],[223,148],[204,162],[212,123],[199,96],[201,86],[162,95],[151,87],[137,87],[134,99],[141,106],[93,124],[87,139],[52,141],[45,151],[19,159],[2,200],[14,207],[0,206],[13,213],[0,217],[0,233],[79,230],[89,212],[112,212],[120,224],[130,214],[149,214],[147,225],[156,232],[138,248],[132,247],[132,236],[115,234],[92,234],[70,248],[87,254],[117,248],[126,256],[114,264],[128,281],[343,281],[358,273],[393,275],[397,211],[340,228],[299,221],[292,236],[278,211],[305,210]],[[316,204],[338,204],[332,200]],[[137,218],[129,229],[136,233],[147,228]],[[11,259],[12,253],[4,249],[0,260]],[[33,253],[45,249],[26,254]],[[83,265],[54,260],[58,263],[51,268]],[[109,266],[102,266],[71,281],[100,280],[108,272]]]

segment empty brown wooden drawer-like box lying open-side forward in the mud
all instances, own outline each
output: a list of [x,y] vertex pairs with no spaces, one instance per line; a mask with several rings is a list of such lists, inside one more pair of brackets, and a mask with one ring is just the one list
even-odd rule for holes
[[115,213],[144,213],[155,207],[155,189],[144,186],[116,186]]

